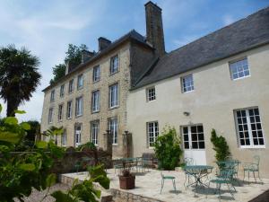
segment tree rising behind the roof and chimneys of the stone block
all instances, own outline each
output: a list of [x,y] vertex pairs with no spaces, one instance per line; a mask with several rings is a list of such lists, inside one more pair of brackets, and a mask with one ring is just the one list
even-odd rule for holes
[[82,44],[77,47],[73,44],[68,44],[67,51],[65,52],[65,61],[63,64],[52,67],[53,79],[50,80],[50,84],[56,83],[60,78],[65,75],[66,64],[69,62],[70,66],[78,66],[82,61],[82,50],[87,50],[87,46]]

